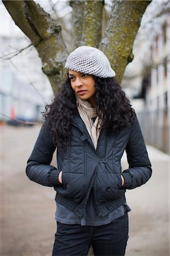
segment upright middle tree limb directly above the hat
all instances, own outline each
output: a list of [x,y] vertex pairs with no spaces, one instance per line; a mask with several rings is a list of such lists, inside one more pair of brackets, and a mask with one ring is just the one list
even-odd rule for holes
[[104,1],[71,0],[69,3],[73,9],[74,48],[78,46],[99,47]]

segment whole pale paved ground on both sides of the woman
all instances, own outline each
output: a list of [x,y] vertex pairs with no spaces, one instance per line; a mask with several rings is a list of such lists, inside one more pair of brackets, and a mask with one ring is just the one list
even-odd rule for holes
[[[56,221],[53,188],[29,181],[25,166],[40,126],[1,126],[1,256],[50,256]],[[169,156],[148,146],[151,179],[126,192],[130,232],[126,256],[169,256]],[[53,163],[55,165],[55,161]],[[128,168],[126,156],[122,170]]]

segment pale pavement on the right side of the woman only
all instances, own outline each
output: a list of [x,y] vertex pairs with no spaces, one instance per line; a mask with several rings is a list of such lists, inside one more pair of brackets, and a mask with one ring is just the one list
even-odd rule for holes
[[[147,145],[152,176],[126,192],[130,232],[126,256],[169,256],[169,155]],[[127,168],[126,156],[122,166]],[[122,168],[122,170],[124,170]]]

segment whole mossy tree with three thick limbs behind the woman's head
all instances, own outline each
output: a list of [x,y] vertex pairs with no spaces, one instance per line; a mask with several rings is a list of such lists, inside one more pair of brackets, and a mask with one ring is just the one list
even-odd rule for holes
[[[98,47],[108,56],[116,79],[121,82],[126,65],[133,59],[132,48],[143,13],[151,1],[114,0],[103,40],[101,23],[104,1],[70,1],[73,8],[75,48]],[[42,60],[54,92],[65,78],[67,49],[61,27],[33,0],[3,0],[15,24],[28,36]]]

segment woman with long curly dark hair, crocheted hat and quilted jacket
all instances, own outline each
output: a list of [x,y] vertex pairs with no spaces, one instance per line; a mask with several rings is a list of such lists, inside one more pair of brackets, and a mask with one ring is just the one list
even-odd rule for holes
[[[29,179],[54,187],[57,232],[53,256],[124,255],[128,241],[125,191],[151,176],[134,110],[103,52],[78,47],[27,164]],[[50,166],[57,147],[57,165]],[[126,150],[129,168],[121,172]]]

